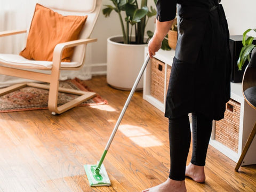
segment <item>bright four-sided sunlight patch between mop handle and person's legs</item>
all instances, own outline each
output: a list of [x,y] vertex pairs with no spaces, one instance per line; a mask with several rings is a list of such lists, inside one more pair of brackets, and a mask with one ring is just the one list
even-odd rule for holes
[[154,135],[140,126],[120,125],[118,129],[140,147],[156,147],[163,145]]

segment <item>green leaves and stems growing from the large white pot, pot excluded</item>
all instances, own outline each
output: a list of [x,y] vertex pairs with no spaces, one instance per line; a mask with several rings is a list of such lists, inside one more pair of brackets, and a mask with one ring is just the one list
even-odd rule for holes
[[[147,7],[147,0],[141,0],[141,7],[139,8],[137,0],[110,0],[113,5],[105,5],[106,8],[102,10],[103,15],[108,17],[114,10],[118,14],[124,44],[145,44],[145,28],[150,17],[156,15],[156,10],[150,6],[150,11]],[[156,3],[156,0],[154,0]],[[125,12],[123,18],[122,12]],[[135,33],[135,42],[132,42],[133,28]]]

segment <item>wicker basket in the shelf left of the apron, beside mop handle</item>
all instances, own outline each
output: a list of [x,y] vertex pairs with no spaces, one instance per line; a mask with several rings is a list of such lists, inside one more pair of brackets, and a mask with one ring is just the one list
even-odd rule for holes
[[[171,73],[171,66],[167,65],[166,77],[168,82],[169,82],[170,73]],[[164,87],[165,87],[165,63],[163,63],[162,61],[159,61],[156,58],[153,58],[151,60],[150,95],[163,103]]]

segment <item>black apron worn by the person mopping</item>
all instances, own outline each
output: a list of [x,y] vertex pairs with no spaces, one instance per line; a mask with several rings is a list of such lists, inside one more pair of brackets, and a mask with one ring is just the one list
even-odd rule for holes
[[230,99],[229,31],[223,7],[178,4],[178,42],[173,59],[165,116],[191,112],[223,118]]

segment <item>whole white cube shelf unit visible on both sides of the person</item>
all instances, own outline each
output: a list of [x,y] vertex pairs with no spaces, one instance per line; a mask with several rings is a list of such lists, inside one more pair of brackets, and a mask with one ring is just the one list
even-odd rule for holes
[[[145,58],[147,56],[147,47],[145,48]],[[175,55],[175,51],[163,51],[159,50],[154,58],[165,63],[165,69],[167,65],[172,66],[173,57]],[[166,86],[166,71],[165,70],[165,86]],[[151,61],[149,61],[148,66],[144,73],[144,81],[143,81],[143,99],[151,103],[151,105],[155,106],[159,110],[165,110],[165,95],[166,95],[166,87],[164,89],[164,102],[161,102],[150,95],[150,86],[151,86]],[[229,149],[219,141],[215,140],[215,122],[213,123],[213,132],[210,140],[210,145],[219,150],[222,154],[226,155],[234,162],[238,162],[238,159],[242,153],[242,150],[245,146],[247,138],[251,133],[252,127],[256,121],[256,110],[252,109],[246,101],[244,100],[242,93],[242,84],[241,83],[231,83],[231,99],[240,103],[240,120],[239,120],[239,136],[238,136],[238,152]],[[247,154],[242,163],[243,165],[256,164],[256,137],[254,138]]]

